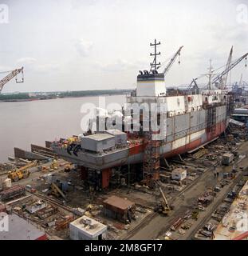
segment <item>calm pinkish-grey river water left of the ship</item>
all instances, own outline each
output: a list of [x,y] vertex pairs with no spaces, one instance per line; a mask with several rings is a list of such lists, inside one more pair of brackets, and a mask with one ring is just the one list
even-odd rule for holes
[[0,102],[0,162],[14,156],[14,147],[30,150],[30,144],[82,134],[94,106],[120,110],[124,102],[125,95]]

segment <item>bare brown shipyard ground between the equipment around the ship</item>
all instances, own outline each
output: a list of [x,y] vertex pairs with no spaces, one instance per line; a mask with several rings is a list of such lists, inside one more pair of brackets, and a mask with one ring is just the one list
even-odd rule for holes
[[[240,146],[238,150],[239,155],[248,154],[248,142],[244,142],[242,146]],[[63,163],[63,160],[59,160],[59,163]],[[50,163],[47,165],[49,166]],[[248,158],[242,159],[242,162],[238,164],[238,166],[248,166]],[[35,170],[37,167],[33,167]],[[106,197],[110,194],[116,194],[123,198],[128,198],[133,202],[139,203],[141,206],[148,207],[148,212],[150,214],[141,214],[140,218],[133,223],[132,226],[134,228],[123,230],[119,232],[121,235],[115,234],[116,238],[119,239],[131,239],[131,240],[144,240],[144,239],[163,239],[165,237],[165,233],[167,230],[170,230],[171,225],[175,222],[176,218],[183,217],[187,210],[192,209],[192,207],[197,204],[197,199],[199,196],[203,195],[204,191],[207,189],[215,187],[217,183],[222,179],[222,174],[226,172],[230,172],[232,166],[219,166],[218,179],[215,178],[214,168],[213,166],[209,166],[203,174],[200,174],[199,177],[192,182],[190,186],[186,187],[186,190],[181,192],[174,192],[172,194],[167,194],[167,199],[169,203],[175,207],[174,210],[171,211],[171,214],[168,217],[163,215],[159,215],[154,213],[151,209],[155,204],[155,201],[158,200],[157,197],[153,193],[144,193],[138,190],[129,190],[128,188],[120,188],[116,190],[111,190],[106,194],[101,194],[101,197]],[[81,186],[81,179],[77,177],[77,172],[64,173],[64,167],[59,168],[59,170],[55,170],[53,173],[57,174],[57,178],[62,180],[72,179],[76,186]],[[32,170],[31,170],[32,171]],[[32,185],[34,188],[37,188],[38,191],[43,190],[45,187],[48,187],[48,184],[45,184],[44,181],[40,179],[42,173],[41,171],[35,172],[32,171],[29,178],[22,179],[17,182],[23,186],[27,184]],[[237,179],[238,180],[238,179]],[[44,186],[44,188],[43,188]],[[175,239],[191,239],[194,237],[195,232],[203,225],[204,222],[207,221],[209,216],[213,211],[215,211],[216,207],[222,202],[222,199],[225,198],[226,194],[230,191],[231,187],[234,186],[234,182],[230,182],[229,185],[222,188],[220,192],[218,192],[217,197],[215,197],[214,202],[211,203],[210,206],[207,207],[207,210],[201,212],[199,214],[198,221],[191,220],[192,226],[189,230],[186,230],[186,233],[181,235],[175,235]],[[175,194],[176,193],[176,194]],[[180,194],[184,193],[184,198],[180,196]],[[88,192],[82,190],[73,190],[68,194],[69,202],[68,206],[71,207],[82,207],[85,208],[89,203],[96,203],[97,195],[94,198],[90,198]],[[98,203],[99,204],[99,203]],[[150,208],[151,207],[151,208]],[[97,216],[100,217],[100,216]],[[100,217],[102,218],[102,217]],[[175,232],[176,233],[176,232]]]

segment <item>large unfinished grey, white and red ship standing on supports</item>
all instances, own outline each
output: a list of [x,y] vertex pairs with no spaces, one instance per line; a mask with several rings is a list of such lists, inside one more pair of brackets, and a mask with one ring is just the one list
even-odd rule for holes
[[[157,62],[159,44],[156,41],[151,44],[155,50],[151,54],[154,57],[151,69],[140,71],[136,90],[127,97],[122,111],[104,118],[97,115],[95,132],[90,126],[84,135],[53,142],[53,149],[61,158],[81,168],[84,179],[96,175],[99,181],[97,186],[101,188],[108,187],[112,174],[121,166],[140,164],[144,180],[158,180],[161,159],[187,153],[215,140],[229,124],[233,97],[226,90],[227,75],[248,54],[232,62],[231,49],[222,74],[214,75],[210,66],[207,74],[209,82],[205,88],[199,89],[193,79],[187,91],[175,90],[171,93],[165,86],[166,74],[180,56],[183,46],[161,70]],[[133,106],[138,106],[138,114]],[[148,108],[146,115],[144,108]],[[135,118],[137,115],[138,118]],[[118,129],[113,116],[121,117]],[[152,118],[155,118],[154,122]],[[103,120],[104,129],[100,129]],[[107,127],[107,123],[112,126]]]

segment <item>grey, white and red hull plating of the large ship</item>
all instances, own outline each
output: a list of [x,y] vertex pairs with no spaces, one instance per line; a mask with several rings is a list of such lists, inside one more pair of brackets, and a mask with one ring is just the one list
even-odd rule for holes
[[[159,148],[161,158],[171,158],[211,142],[222,134],[228,126],[229,118],[226,105],[215,106],[215,123],[209,126],[208,110],[195,110],[167,118],[167,137]],[[62,147],[53,146],[61,158],[78,166],[93,170],[104,170],[116,166],[136,164],[144,161],[144,143],[113,150],[107,154],[89,154],[79,152],[77,156],[68,154]]]

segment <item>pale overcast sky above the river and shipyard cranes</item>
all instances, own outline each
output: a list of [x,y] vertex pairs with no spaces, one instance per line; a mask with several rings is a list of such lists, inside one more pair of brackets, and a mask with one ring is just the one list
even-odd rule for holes
[[[148,69],[149,43],[157,38],[160,62],[184,46],[166,84],[179,86],[248,51],[247,0],[0,0],[9,22],[0,23],[0,72],[24,66],[25,83],[3,92],[134,88]],[[239,19],[238,19],[239,17]],[[246,13],[242,18],[246,18]],[[248,80],[245,62],[232,82]],[[3,74],[0,74],[1,78]],[[248,81],[247,81],[248,82]]]

